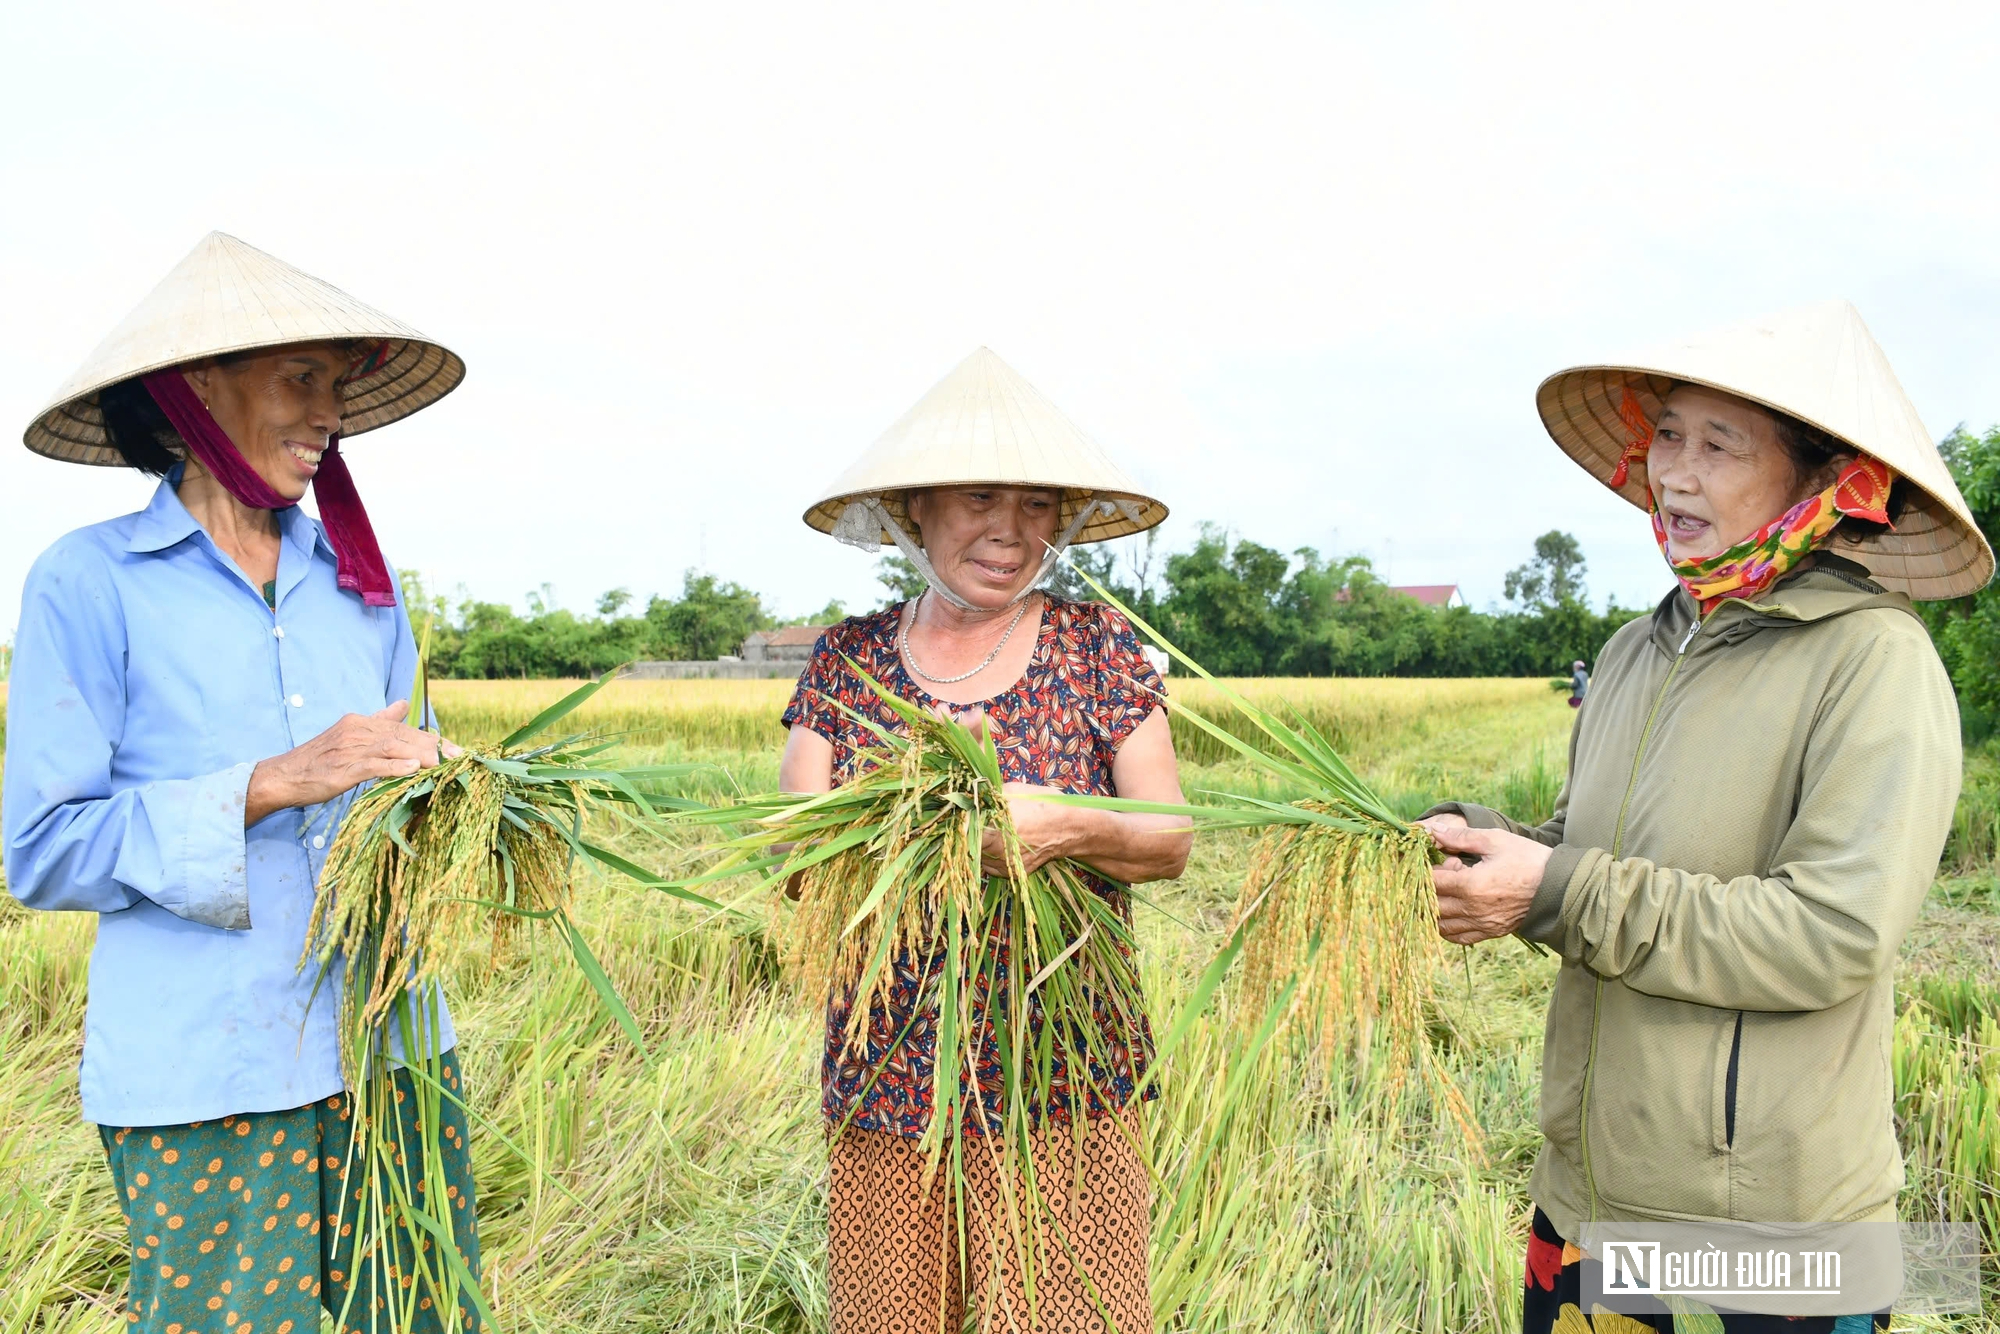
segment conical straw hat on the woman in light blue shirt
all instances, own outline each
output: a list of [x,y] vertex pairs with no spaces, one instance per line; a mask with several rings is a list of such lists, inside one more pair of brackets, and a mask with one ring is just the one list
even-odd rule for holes
[[162,366],[290,342],[370,338],[382,364],[346,382],[340,434],[358,436],[426,408],[466,378],[466,364],[402,320],[364,306],[284,260],[210,232],[36,412],[30,450],[72,464],[124,464],[104,438],[98,390]]

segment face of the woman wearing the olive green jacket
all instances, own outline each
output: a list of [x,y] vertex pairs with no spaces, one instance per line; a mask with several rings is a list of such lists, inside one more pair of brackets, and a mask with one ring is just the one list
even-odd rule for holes
[[1672,560],[1726,552],[1800,500],[1798,470],[1772,414],[1692,384],[1666,396],[1646,482]]

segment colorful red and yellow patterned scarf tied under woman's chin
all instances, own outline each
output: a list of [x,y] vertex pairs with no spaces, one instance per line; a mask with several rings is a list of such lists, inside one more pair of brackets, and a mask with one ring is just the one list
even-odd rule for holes
[[[1652,448],[1652,424],[1632,390],[1624,392],[1618,416],[1626,424],[1626,448],[1618,458],[1618,470],[1612,472],[1614,488],[1626,484],[1632,464],[1644,464]],[[1694,598],[1700,614],[1708,616],[1724,598],[1748,602],[1796,570],[1800,560],[1826,544],[1842,518],[1888,524],[1888,490],[1894,480],[1896,474],[1888,464],[1856,454],[1818,496],[1800,500],[1728,550],[1696,560],[1666,556],[1666,520],[1654,502],[1652,486],[1646,488],[1646,510],[1652,514],[1652,540],[1674,568],[1674,578]]]

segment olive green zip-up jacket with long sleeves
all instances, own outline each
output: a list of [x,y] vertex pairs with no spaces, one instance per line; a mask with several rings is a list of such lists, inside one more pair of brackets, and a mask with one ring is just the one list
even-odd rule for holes
[[1606,644],[1520,934],[1562,956],[1530,1194],[1590,1220],[1894,1218],[1896,952],[1958,802],[1958,704],[1902,594],[1820,558]]

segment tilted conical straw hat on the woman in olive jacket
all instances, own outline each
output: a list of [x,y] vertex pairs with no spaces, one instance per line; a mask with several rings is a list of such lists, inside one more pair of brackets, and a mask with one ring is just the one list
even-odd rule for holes
[[[1676,382],[1704,384],[1818,426],[1880,458],[1910,484],[1892,532],[1834,532],[1832,550],[1868,566],[1884,588],[1918,600],[1964,598],[1986,586],[1994,554],[1924,430],[1916,406],[1860,312],[1820,302],[1542,380],[1534,402],[1562,452],[1610,486],[1626,446],[1618,416],[1630,388],[1646,420]],[[1646,474],[1618,494],[1646,508]]]

